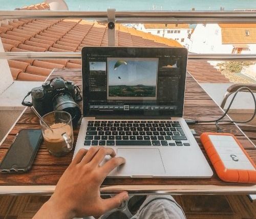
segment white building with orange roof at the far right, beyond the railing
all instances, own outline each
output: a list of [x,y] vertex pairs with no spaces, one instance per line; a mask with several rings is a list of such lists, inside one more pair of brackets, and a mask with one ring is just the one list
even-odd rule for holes
[[191,34],[191,41],[189,52],[193,53],[253,54],[256,24],[200,24]]

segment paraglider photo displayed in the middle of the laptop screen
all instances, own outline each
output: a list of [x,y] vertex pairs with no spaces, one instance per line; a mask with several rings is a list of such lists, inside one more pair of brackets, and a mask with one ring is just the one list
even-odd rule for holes
[[158,58],[108,58],[108,100],[156,100]]

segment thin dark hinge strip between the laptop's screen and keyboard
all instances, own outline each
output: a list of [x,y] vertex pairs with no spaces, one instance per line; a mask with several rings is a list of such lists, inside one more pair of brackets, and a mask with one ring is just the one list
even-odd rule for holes
[[172,119],[170,116],[142,116],[142,115],[97,115],[96,119]]

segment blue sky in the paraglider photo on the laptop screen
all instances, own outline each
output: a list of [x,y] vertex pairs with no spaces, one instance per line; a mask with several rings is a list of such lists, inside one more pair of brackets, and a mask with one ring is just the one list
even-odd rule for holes
[[[158,62],[156,61],[127,61],[114,70],[115,63],[119,59],[108,61],[109,85],[128,85],[134,86],[143,84],[147,86],[156,86]],[[120,77],[121,79],[119,79]]]

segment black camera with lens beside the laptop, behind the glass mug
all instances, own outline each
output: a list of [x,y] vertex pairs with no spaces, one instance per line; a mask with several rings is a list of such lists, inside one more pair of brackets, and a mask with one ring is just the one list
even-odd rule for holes
[[[32,103],[25,102],[30,94]],[[33,88],[25,96],[22,105],[34,106],[41,116],[55,110],[69,112],[72,116],[73,125],[77,126],[81,117],[81,110],[76,102],[81,100],[80,88],[74,85],[73,81],[65,81],[63,78],[57,77],[42,84],[41,87]]]

